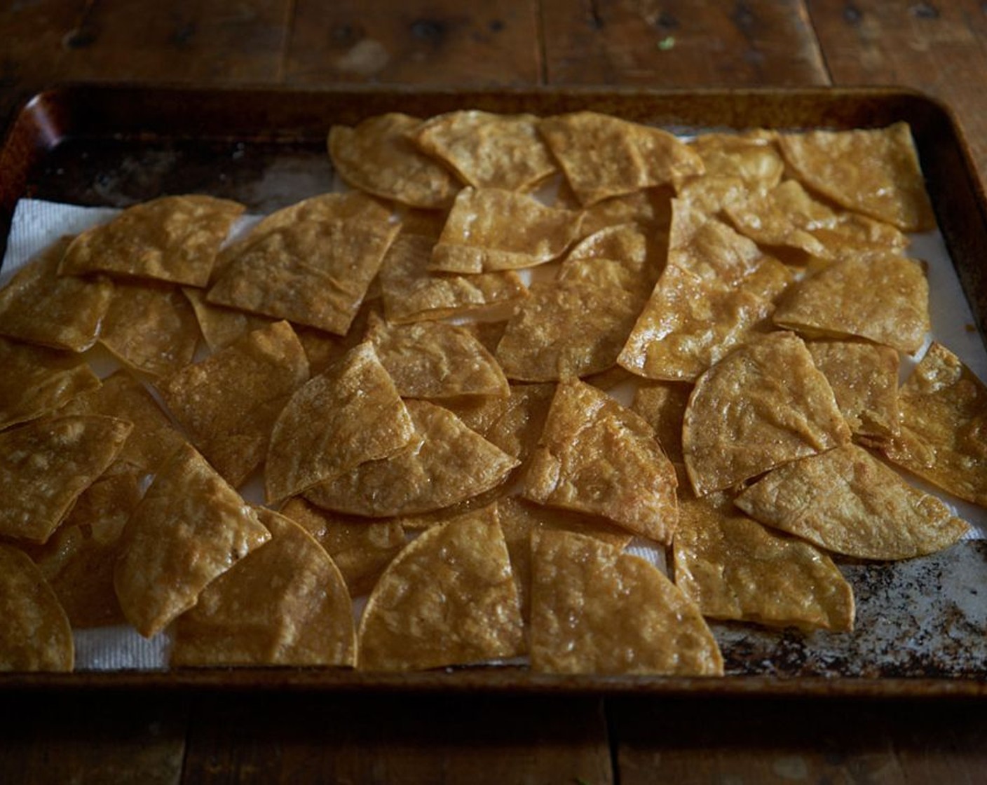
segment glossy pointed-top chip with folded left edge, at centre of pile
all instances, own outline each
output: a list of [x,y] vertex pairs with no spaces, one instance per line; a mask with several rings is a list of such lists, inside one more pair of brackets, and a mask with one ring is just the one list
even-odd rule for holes
[[526,499],[603,515],[658,542],[671,542],[678,520],[675,469],[650,426],[577,379],[559,384],[523,483]]

